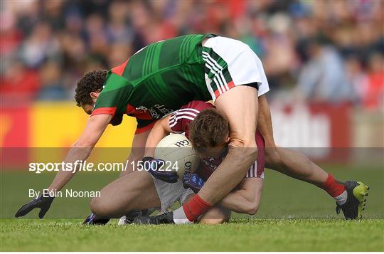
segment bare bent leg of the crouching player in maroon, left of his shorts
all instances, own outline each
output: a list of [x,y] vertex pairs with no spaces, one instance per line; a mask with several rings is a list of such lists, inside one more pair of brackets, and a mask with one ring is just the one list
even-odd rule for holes
[[152,176],[133,171],[105,186],[90,206],[99,217],[119,218],[132,210],[161,207],[161,203]]

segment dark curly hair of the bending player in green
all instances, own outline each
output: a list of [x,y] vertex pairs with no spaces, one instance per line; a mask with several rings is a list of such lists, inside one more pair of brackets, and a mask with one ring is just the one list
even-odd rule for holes
[[102,86],[107,78],[107,73],[108,70],[92,70],[80,78],[75,90],[75,100],[78,107],[85,104],[93,104],[90,93],[102,90]]

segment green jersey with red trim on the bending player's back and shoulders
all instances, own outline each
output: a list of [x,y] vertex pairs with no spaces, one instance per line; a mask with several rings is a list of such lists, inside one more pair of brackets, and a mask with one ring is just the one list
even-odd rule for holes
[[201,42],[212,36],[192,34],[152,43],[112,68],[92,115],[136,117],[139,133],[191,100],[210,100]]

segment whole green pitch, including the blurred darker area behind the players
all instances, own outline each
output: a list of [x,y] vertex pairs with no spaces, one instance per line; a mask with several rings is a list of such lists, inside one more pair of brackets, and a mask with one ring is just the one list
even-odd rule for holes
[[[53,174],[1,171],[1,251],[384,251],[383,166],[325,166],[338,179],[370,186],[362,221],[344,221],[335,203],[309,184],[267,170],[260,210],[233,215],[225,225],[82,226],[89,199],[58,199],[46,219],[14,212],[29,188],[46,186]],[[68,188],[98,190],[116,174],[80,174]],[[23,184],[21,184],[23,183]],[[28,183],[28,184],[27,184]]]

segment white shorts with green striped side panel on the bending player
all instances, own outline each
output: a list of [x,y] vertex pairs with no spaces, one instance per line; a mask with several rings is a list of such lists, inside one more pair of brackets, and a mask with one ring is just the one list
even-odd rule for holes
[[206,85],[212,100],[237,85],[258,83],[258,95],[270,90],[260,58],[241,41],[221,36],[203,46]]

